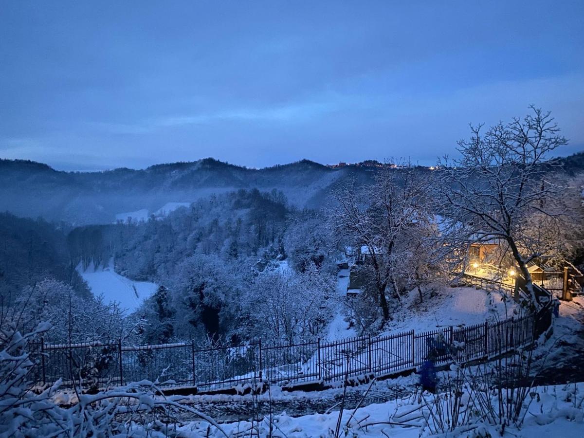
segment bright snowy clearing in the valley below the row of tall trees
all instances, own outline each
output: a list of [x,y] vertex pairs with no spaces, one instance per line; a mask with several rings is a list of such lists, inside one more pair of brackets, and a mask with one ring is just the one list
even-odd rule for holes
[[150,297],[158,287],[149,281],[133,281],[114,271],[113,258],[108,266],[95,269],[91,263],[83,270],[81,263],[77,266],[79,274],[89,284],[93,295],[103,296],[106,303],[116,301],[127,313],[136,310],[145,298]]

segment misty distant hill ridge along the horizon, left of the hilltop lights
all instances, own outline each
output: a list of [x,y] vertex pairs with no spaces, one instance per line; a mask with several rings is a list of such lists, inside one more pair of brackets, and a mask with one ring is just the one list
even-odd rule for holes
[[156,211],[169,202],[193,202],[211,193],[281,190],[288,203],[318,207],[331,187],[349,178],[366,183],[371,169],[332,169],[303,160],[249,169],[215,159],[105,172],[62,172],[45,164],[0,160],[0,211],[72,224],[106,224],[116,214]]

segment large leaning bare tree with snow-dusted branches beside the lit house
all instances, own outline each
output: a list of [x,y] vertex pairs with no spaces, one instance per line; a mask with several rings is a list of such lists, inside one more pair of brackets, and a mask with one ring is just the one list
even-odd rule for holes
[[470,140],[458,141],[461,157],[439,162],[437,199],[449,242],[459,248],[470,240],[502,242],[535,303],[528,265],[545,255],[550,242],[546,231],[556,227],[562,215],[555,208],[559,187],[545,175],[559,166],[550,160],[550,152],[567,140],[558,134],[549,112],[530,108],[533,112],[524,119],[499,122],[484,134],[482,125],[471,125]]

